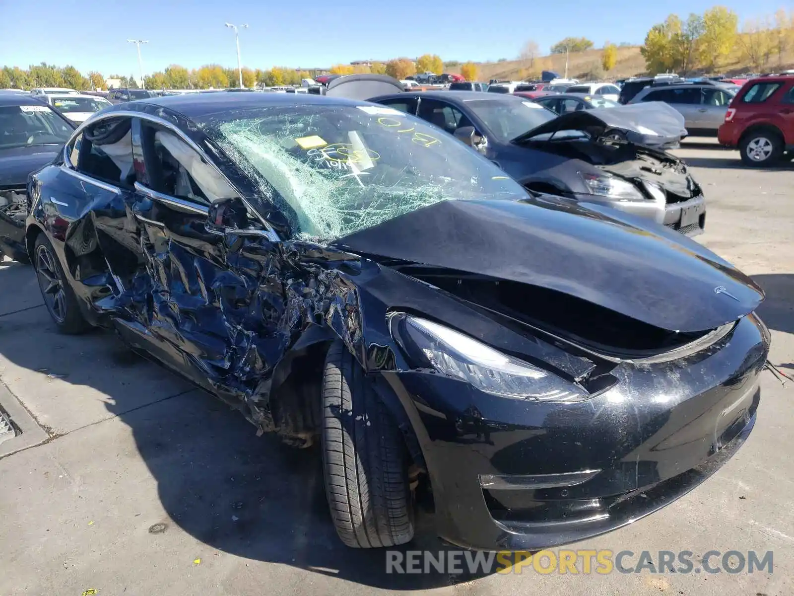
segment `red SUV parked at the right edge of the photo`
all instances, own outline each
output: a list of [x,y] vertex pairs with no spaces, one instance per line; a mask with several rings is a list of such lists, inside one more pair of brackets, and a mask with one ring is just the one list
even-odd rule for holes
[[794,75],[750,79],[728,106],[719,142],[748,165],[769,165],[794,149]]

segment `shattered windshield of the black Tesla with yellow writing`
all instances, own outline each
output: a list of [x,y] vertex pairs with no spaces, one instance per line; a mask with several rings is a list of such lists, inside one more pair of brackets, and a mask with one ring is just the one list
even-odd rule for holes
[[442,200],[526,194],[454,137],[393,108],[314,103],[214,116],[206,133],[297,238],[331,242]]

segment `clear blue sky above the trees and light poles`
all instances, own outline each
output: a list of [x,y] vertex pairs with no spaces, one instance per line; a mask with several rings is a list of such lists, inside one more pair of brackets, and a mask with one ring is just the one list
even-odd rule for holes
[[[739,17],[789,10],[794,0],[722,2]],[[669,13],[702,13],[714,0],[83,0],[75,4],[0,0],[0,65],[27,68],[41,61],[80,71],[137,75],[168,64],[236,66],[234,35],[223,24],[248,23],[240,34],[242,61],[251,68],[327,67],[351,60],[384,60],[437,53],[444,60],[514,58],[528,39],[548,51],[563,37],[642,43]],[[33,9],[35,6],[35,9]]]

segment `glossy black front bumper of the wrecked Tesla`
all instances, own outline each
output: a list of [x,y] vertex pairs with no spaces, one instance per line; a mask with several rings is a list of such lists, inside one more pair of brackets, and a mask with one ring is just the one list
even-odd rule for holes
[[755,422],[769,332],[754,315],[699,354],[618,365],[579,404],[495,397],[434,373],[384,373],[422,448],[437,531],[486,551],[609,532],[676,500],[741,447]]

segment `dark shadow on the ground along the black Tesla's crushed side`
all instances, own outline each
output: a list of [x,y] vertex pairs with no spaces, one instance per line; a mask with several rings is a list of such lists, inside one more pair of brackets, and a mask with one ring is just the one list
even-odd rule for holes
[[[0,351],[17,366],[43,376],[58,373],[59,382],[91,387],[106,396],[105,408],[129,427],[156,481],[166,515],[147,520],[147,527],[160,529],[156,524],[165,524],[165,532],[181,528],[212,549],[244,559],[392,590],[449,586],[482,577],[435,570],[388,574],[384,549],[345,547],[330,519],[317,445],[299,450],[273,435],[257,437],[240,412],[178,382],[160,401],[142,403],[131,387],[155,377],[170,384],[168,374],[154,369],[109,331],[58,334],[43,306],[28,306],[34,298],[40,304],[32,269],[9,261],[0,267],[12,268],[12,285],[25,290],[21,292],[25,296],[7,305],[9,315],[0,316],[4,339]],[[21,312],[20,307],[28,308]],[[31,339],[33,330],[35,340]],[[70,354],[79,354],[79,362]],[[101,370],[106,372],[98,373]],[[108,490],[114,489],[109,486]],[[129,513],[130,523],[137,525],[140,520],[133,521],[136,504],[132,495],[129,499],[121,511]],[[150,509],[160,511],[160,506]],[[438,551],[449,549],[435,535],[433,514],[422,506],[417,507],[415,526],[414,540],[395,549],[403,556],[406,551],[429,550],[437,557]]]

